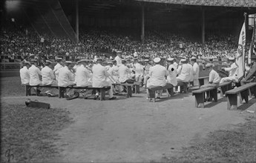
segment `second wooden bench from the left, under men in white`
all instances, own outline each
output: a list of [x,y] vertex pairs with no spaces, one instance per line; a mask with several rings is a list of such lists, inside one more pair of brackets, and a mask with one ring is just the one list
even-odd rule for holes
[[59,98],[64,98],[64,94],[67,88],[70,89],[76,89],[76,90],[99,90],[100,96],[99,99],[100,101],[105,100],[105,91],[111,89],[111,86],[107,87],[77,87],[76,85],[73,86],[68,86],[68,87],[59,87]]

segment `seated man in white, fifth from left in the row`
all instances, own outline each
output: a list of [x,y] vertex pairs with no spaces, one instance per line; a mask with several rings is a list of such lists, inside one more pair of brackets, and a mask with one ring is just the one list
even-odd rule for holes
[[[87,87],[92,86],[92,83],[89,82],[89,79],[91,79],[91,73],[86,68],[88,64],[87,59],[82,59],[80,61],[77,61],[79,66],[76,68],[76,86],[77,87]],[[88,99],[87,95],[91,94],[92,90],[85,90],[84,98]]]

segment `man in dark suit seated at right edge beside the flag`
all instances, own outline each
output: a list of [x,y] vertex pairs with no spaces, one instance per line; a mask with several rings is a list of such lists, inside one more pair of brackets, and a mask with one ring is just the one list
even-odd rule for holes
[[249,69],[249,73],[247,73],[246,78],[241,80],[241,85],[250,82],[256,82],[256,55],[252,55],[251,57],[252,63]]

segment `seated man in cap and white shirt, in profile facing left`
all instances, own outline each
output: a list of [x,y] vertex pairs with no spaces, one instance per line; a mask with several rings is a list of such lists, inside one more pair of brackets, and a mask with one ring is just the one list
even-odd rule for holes
[[[200,88],[204,87],[218,87],[220,84],[220,76],[219,74],[213,70],[214,64],[206,64],[206,70],[209,70],[209,83],[202,85]],[[209,99],[209,93],[206,93],[206,101]]]

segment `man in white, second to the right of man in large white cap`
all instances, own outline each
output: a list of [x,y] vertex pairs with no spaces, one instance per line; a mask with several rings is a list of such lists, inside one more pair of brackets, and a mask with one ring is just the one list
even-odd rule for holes
[[180,61],[181,66],[177,70],[179,74],[177,77],[177,82],[189,82],[191,69],[188,64],[186,64],[186,59],[181,59]]

